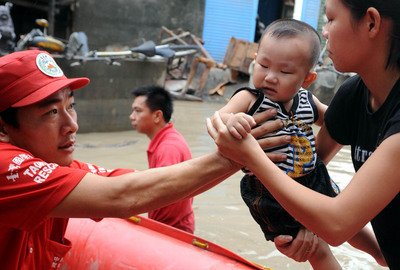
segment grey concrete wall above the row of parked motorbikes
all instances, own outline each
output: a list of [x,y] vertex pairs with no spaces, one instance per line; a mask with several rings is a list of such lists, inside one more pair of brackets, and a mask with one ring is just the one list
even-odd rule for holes
[[81,0],[72,28],[86,32],[91,50],[133,47],[144,40],[157,43],[161,26],[201,37],[204,6],[205,0]]

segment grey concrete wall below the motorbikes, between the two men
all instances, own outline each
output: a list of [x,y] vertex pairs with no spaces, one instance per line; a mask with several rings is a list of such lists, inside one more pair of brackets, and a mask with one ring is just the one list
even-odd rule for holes
[[150,84],[163,86],[167,68],[162,59],[127,59],[119,61],[120,65],[89,61],[79,66],[63,58],[56,61],[67,77],[90,79],[89,85],[74,93],[80,133],[130,130],[132,90]]

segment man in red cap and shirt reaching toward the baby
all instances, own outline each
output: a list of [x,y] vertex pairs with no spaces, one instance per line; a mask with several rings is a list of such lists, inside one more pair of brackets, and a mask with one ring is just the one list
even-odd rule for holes
[[142,172],[74,160],[73,91],[88,83],[68,79],[46,52],[0,58],[2,269],[57,268],[71,247],[64,237],[70,217],[130,217],[198,194],[238,170],[217,153]]

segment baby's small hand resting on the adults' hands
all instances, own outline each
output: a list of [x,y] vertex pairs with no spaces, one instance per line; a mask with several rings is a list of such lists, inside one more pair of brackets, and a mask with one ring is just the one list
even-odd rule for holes
[[247,134],[251,132],[251,128],[255,125],[254,118],[242,112],[230,114],[226,121],[226,127],[229,132],[239,140],[246,138]]

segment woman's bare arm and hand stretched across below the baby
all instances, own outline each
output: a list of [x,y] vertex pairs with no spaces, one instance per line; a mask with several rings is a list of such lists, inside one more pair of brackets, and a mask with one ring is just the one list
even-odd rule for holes
[[234,140],[218,113],[215,120],[214,125],[208,121],[208,129],[219,151],[247,166],[293,217],[331,245],[353,237],[399,192],[400,134],[386,139],[350,184],[331,198],[293,181],[267,158],[251,136]]

